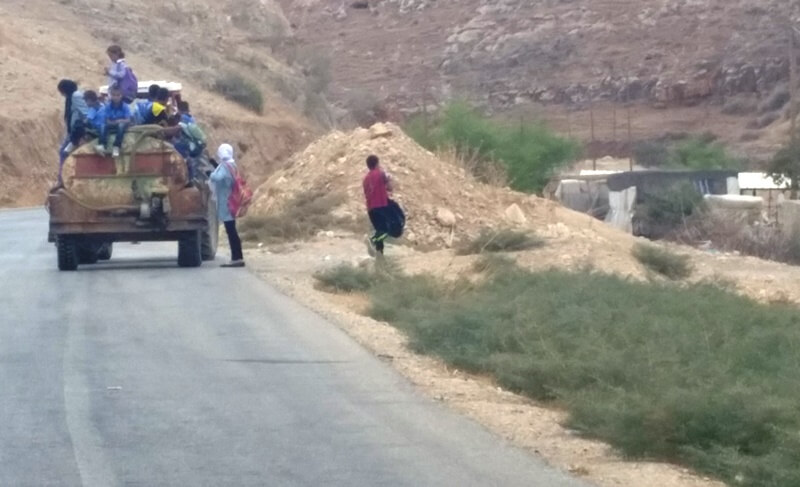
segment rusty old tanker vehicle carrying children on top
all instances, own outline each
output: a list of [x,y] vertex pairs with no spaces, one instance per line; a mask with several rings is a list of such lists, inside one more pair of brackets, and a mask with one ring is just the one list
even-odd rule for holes
[[48,195],[49,240],[60,270],[110,259],[116,242],[175,241],[181,267],[214,259],[213,192],[206,179],[188,180],[186,162],[160,128],[132,127],[118,159],[93,145],[70,154],[62,183]]

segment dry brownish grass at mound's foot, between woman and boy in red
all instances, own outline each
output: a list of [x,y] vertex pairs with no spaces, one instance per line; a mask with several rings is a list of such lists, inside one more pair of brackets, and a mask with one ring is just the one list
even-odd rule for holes
[[251,242],[284,242],[310,238],[320,230],[354,225],[334,218],[331,211],[346,199],[343,193],[308,191],[290,201],[278,214],[249,216],[242,220],[242,239]]

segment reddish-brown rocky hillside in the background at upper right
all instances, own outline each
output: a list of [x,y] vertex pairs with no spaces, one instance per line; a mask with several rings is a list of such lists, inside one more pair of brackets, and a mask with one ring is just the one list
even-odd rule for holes
[[[737,143],[760,138],[746,126],[788,77],[785,23],[797,9],[780,0],[280,2],[300,42],[328,52],[344,105],[375,100],[396,113],[419,110],[423,97],[467,96],[565,129],[567,110],[578,110],[571,128],[588,138],[588,100],[636,101],[641,137],[680,125]],[[721,113],[731,97],[746,99],[739,116]],[[709,108],[691,109],[698,104]]]

